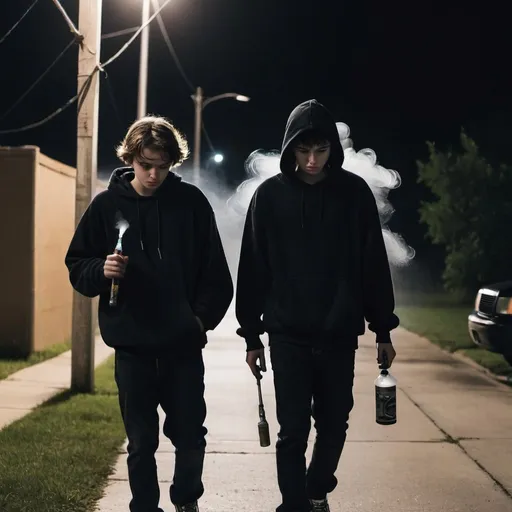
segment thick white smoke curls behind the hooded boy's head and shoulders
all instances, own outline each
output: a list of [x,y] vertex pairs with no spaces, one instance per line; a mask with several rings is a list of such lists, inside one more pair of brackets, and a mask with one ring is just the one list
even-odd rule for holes
[[[345,155],[343,168],[361,176],[373,192],[382,226],[382,234],[389,263],[396,267],[403,267],[411,262],[415,251],[397,233],[388,227],[393,213],[393,206],[388,200],[391,190],[398,188],[402,181],[397,171],[386,169],[377,162],[375,151],[369,148],[355,151],[350,139],[350,128],[345,123],[336,123],[341,145]],[[228,209],[244,217],[256,188],[268,178],[279,174],[279,151],[253,151],[246,160],[245,167],[250,176],[228,199]]]

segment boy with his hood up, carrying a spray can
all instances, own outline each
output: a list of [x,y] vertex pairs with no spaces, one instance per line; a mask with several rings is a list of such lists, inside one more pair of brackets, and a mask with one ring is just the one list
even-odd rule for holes
[[[365,319],[378,362],[386,356],[390,366],[395,357],[390,331],[399,321],[375,198],[342,164],[330,113],[316,100],[298,105],[286,125],[281,172],[256,190],[245,222],[237,333],[257,379],[266,371],[260,335],[269,337],[278,512],[329,511]],[[311,416],[316,442],[306,471]]]

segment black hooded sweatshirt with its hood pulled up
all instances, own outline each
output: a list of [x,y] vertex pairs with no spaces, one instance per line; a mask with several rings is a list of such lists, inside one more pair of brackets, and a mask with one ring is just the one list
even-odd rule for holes
[[[326,177],[314,185],[296,177],[293,153],[294,139],[310,129],[331,143]],[[390,342],[399,320],[377,205],[368,184],[342,164],[330,113],[316,100],[297,106],[281,172],[258,187],[245,220],[236,315],[248,350],[263,346],[264,332],[275,341],[357,348],[365,318],[377,342]]]

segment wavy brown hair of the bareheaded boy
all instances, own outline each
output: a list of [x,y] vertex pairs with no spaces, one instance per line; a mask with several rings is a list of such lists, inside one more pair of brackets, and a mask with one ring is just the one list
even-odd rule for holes
[[167,119],[158,116],[135,121],[116,148],[116,154],[123,163],[131,165],[136,156],[149,148],[168,155],[171,167],[181,165],[189,155],[185,136]]

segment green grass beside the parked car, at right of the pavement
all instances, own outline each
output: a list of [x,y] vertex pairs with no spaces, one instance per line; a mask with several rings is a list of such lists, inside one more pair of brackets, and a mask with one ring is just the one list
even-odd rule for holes
[[[409,305],[405,305],[409,303]],[[472,305],[457,304],[450,297],[404,298],[397,307],[400,324],[449,352],[461,352],[496,375],[512,376],[503,356],[478,348],[469,337],[468,315]]]

